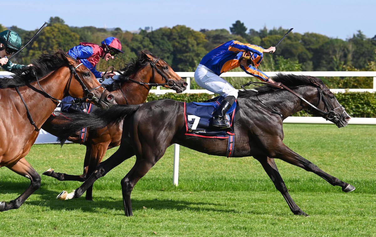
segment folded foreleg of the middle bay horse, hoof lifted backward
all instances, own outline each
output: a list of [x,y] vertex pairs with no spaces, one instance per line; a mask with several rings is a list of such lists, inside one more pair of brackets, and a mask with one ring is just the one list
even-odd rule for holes
[[90,164],[90,154],[91,154],[91,147],[89,145],[86,146],[86,153],[85,153],[85,160],[83,161],[83,173],[81,175],[73,175],[73,174],[65,174],[65,173],[55,173],[53,168],[49,168],[48,170],[44,171],[42,174],[45,176],[53,177],[60,181],[80,181],[84,182],[86,177],[88,177],[88,168]]

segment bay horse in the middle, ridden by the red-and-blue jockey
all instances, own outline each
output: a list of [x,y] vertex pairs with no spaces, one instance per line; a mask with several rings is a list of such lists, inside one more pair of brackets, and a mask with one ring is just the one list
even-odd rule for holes
[[[163,60],[153,55],[148,50],[141,51],[138,58],[127,63],[118,80],[111,84],[104,85],[114,96],[117,104],[141,104],[146,101],[149,90],[152,86],[164,86],[181,93],[186,89],[187,83],[178,76],[174,70]],[[55,124],[67,124],[71,120],[62,116],[51,115],[43,124],[42,128],[54,136],[59,136],[60,129],[54,129]],[[74,180],[84,182],[102,161],[108,149],[120,145],[123,124],[104,127],[91,132],[87,131],[85,141],[85,160],[83,162],[83,173],[71,175],[56,173],[52,168],[45,171],[46,176],[54,177],[60,181]],[[71,135],[68,141],[81,143],[80,131]],[[92,187],[86,191],[86,199],[92,200]]]

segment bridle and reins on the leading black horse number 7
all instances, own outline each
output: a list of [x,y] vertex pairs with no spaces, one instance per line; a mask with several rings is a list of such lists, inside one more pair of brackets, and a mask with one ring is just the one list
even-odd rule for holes
[[[307,111],[308,113],[311,113],[312,109],[315,109],[315,110],[317,110],[318,112],[322,113],[322,114],[324,115],[323,117],[324,117],[326,120],[329,120],[329,121],[333,122],[333,123],[336,124],[336,125],[338,125],[338,124],[341,122],[341,119],[342,119],[343,116],[344,116],[345,108],[344,108],[343,106],[340,105],[340,106],[338,106],[338,107],[336,107],[336,108],[333,108],[333,107],[329,104],[329,102],[327,101],[327,99],[325,98],[323,92],[326,91],[326,90],[329,90],[329,88],[326,88],[326,89],[324,89],[324,90],[321,90],[320,86],[316,86],[317,91],[318,91],[318,94],[320,95],[320,99],[318,100],[317,106],[320,104],[321,101],[323,101],[323,102],[324,102],[324,106],[325,106],[325,110],[327,111],[327,112],[325,112],[324,110],[321,110],[321,109],[319,109],[317,106],[314,106],[312,103],[310,103],[309,101],[307,101],[306,99],[304,99],[301,95],[299,95],[298,93],[294,92],[294,91],[291,90],[290,88],[284,86],[283,84],[281,84],[280,86],[277,86],[277,85],[270,84],[270,83],[264,83],[264,82],[251,82],[251,81],[250,81],[249,83],[244,84],[243,86],[241,86],[241,88],[243,88],[244,86],[249,86],[250,84],[253,84],[253,85],[255,85],[255,86],[258,86],[256,83],[257,83],[257,84],[266,84],[266,85],[269,85],[269,86],[277,87],[277,88],[279,88],[279,89],[284,88],[284,89],[288,90],[289,92],[293,93],[293,94],[296,95],[298,98],[300,98],[302,101],[304,101],[304,102],[306,102],[307,104],[309,104],[309,106],[311,106],[311,109],[310,109],[309,111]],[[330,90],[329,90],[329,91],[330,91]],[[260,101],[260,102],[261,102],[261,101]],[[261,103],[262,103],[262,102],[261,102]],[[264,103],[262,103],[262,104],[264,104]],[[264,104],[264,106],[266,106],[266,105]],[[269,106],[267,106],[267,107],[270,108]],[[339,108],[342,108],[342,109],[343,109],[340,118],[338,118],[338,117],[335,115],[335,110],[337,110],[337,109],[339,109]],[[270,108],[270,109],[272,109],[272,108]],[[276,113],[276,114],[278,114],[278,115],[280,115],[280,116],[282,117],[282,114],[280,114],[280,113],[273,112],[273,111],[271,111],[271,112],[272,112],[272,113]]]

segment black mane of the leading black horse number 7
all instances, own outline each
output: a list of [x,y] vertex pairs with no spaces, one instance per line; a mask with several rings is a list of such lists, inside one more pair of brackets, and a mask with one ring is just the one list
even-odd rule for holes
[[[287,87],[295,86],[317,86],[323,84],[320,78],[314,76],[303,76],[303,75],[293,75],[293,74],[283,74],[278,73],[276,76],[271,77],[273,81],[281,82]],[[255,91],[256,90],[256,91]],[[276,90],[273,86],[261,86],[255,88],[255,90],[240,90],[239,98],[248,98],[255,96],[256,93],[267,93]]]

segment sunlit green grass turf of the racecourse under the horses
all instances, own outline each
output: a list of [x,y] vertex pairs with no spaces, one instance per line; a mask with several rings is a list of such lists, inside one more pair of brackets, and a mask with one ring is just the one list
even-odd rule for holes
[[[276,160],[292,198],[310,215],[294,216],[252,157],[216,157],[180,147],[179,186],[173,187],[171,146],[136,184],[133,217],[124,216],[120,180],[135,157],[97,180],[93,202],[83,196],[56,200],[80,183],[42,176],[41,188],[19,209],[0,213],[0,236],[376,236],[376,126],[287,124],[284,131],[288,147],[356,190],[344,193]],[[27,161],[39,174],[50,167],[81,174],[84,154],[77,144],[35,145]],[[14,199],[28,185],[3,167],[0,200]]]

